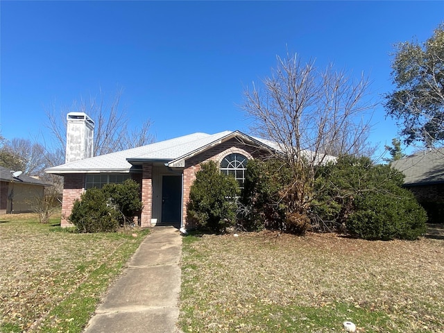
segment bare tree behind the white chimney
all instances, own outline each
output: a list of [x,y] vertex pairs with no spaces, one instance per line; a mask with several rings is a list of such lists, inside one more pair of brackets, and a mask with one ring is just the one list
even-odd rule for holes
[[65,161],[66,130],[68,112],[85,112],[94,121],[94,156],[113,153],[123,149],[144,146],[155,141],[151,133],[151,120],[146,119],[138,128],[129,129],[129,117],[121,107],[121,89],[108,99],[103,92],[99,96],[75,101],[69,108],[57,108],[51,105],[46,110],[49,122],[47,128],[53,135],[51,143],[46,142],[48,158],[51,164],[58,165]]

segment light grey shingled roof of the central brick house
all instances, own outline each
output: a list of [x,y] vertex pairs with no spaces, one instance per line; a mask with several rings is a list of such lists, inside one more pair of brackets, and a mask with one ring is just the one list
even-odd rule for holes
[[279,151],[278,146],[271,141],[250,137],[239,130],[226,130],[213,135],[194,133],[169,139],[137,148],[118,151],[106,155],[90,157],[85,160],[69,162],[46,169],[47,173],[98,173],[98,172],[129,172],[134,165],[144,162],[161,162],[168,167],[185,167],[185,160],[205,151],[216,144],[237,137],[249,144],[257,144],[271,151]]

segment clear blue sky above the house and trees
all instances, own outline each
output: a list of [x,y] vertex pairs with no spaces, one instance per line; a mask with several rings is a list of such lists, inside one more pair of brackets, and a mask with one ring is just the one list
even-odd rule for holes
[[[444,1],[1,1],[1,135],[49,139],[45,110],[112,97],[132,126],[151,119],[157,141],[241,130],[244,86],[270,74],[286,49],[334,62],[393,89],[393,44],[423,42]],[[76,111],[76,110],[71,110]],[[397,128],[375,109],[370,137]]]

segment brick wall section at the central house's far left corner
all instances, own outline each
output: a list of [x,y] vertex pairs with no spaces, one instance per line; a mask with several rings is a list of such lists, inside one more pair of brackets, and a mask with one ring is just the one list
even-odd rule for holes
[[68,221],[74,200],[80,198],[85,191],[85,175],[83,173],[67,173],[63,178],[62,227],[72,226]]

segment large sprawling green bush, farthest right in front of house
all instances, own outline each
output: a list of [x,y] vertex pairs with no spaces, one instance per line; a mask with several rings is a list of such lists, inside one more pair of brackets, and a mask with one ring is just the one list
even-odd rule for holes
[[403,177],[368,157],[341,156],[318,169],[312,210],[364,239],[416,239],[425,232],[427,215],[401,187]]

